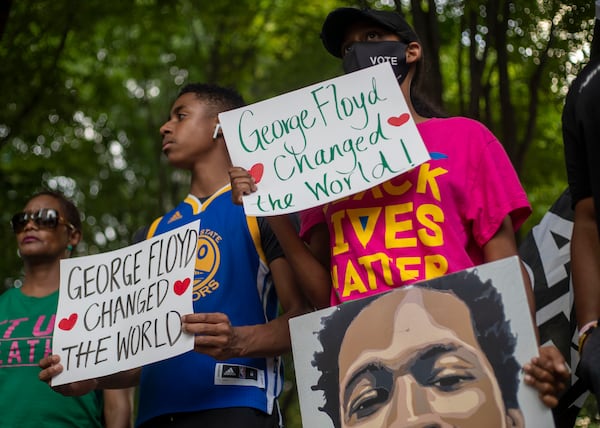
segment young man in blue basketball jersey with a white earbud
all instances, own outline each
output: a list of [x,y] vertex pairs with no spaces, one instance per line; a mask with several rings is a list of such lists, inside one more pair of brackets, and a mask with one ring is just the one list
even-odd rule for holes
[[[246,217],[231,201],[231,160],[217,115],[243,105],[233,90],[190,84],[160,128],[169,163],[191,172],[190,192],[141,238],[201,219],[194,313],[182,318],[183,329],[196,335],[196,352],[57,391],[79,395],[139,384],[137,425],[143,428],[281,426],[280,355],[291,348],[289,318],[307,306],[267,222]],[[40,366],[44,381],[62,371],[57,356]]]

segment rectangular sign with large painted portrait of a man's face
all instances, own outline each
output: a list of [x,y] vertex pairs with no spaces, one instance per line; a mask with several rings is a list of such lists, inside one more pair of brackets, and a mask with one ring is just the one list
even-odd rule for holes
[[554,426],[517,257],[290,320],[305,427]]

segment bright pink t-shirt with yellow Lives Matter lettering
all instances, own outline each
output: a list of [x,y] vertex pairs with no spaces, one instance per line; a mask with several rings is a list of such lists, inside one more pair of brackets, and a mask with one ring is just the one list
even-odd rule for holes
[[463,270],[510,214],[518,229],[531,213],[496,137],[463,118],[420,123],[431,160],[365,192],[301,213],[300,234],[327,223],[331,304]]

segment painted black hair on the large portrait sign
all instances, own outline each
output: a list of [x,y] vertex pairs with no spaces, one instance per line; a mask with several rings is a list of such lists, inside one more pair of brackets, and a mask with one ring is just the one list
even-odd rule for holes
[[[413,286],[452,293],[467,305],[477,342],[490,362],[500,386],[505,410],[518,409],[517,391],[521,367],[514,357],[516,338],[510,330],[510,322],[506,320],[500,293],[493,287],[491,280],[482,282],[477,271],[473,270],[457,272],[451,279],[440,277]],[[344,303],[321,320],[323,328],[318,332],[318,338],[323,351],[315,352],[312,361],[321,376],[312,389],[323,391],[325,405],[319,410],[331,418],[335,427],[340,426],[338,356],[345,332],[363,309],[387,294]]]

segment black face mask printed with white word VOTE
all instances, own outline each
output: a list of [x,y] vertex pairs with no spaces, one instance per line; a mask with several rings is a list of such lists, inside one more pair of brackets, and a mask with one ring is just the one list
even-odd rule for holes
[[344,55],[344,71],[351,73],[387,61],[392,64],[398,83],[402,83],[409,68],[406,63],[407,47],[404,43],[396,41],[356,42]]

